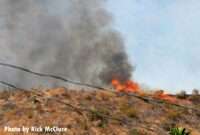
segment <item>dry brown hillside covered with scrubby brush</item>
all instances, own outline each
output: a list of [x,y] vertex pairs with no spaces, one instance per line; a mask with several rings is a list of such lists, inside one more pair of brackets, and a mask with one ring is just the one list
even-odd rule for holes
[[[200,112],[191,109],[98,90],[69,90],[59,87],[31,91],[41,93],[48,98],[58,99],[77,108],[73,109],[53,100],[42,99],[33,93],[17,90],[1,91],[0,135],[25,134],[4,132],[5,126],[67,128],[67,133],[43,131],[29,132],[30,135],[151,135],[165,134],[176,125],[191,131],[192,135],[200,135]],[[157,99],[152,96],[148,98]],[[180,99],[177,103],[198,108],[198,104],[195,105],[191,101],[186,102]],[[93,113],[84,109],[92,110]],[[100,114],[110,116],[115,120]]]

